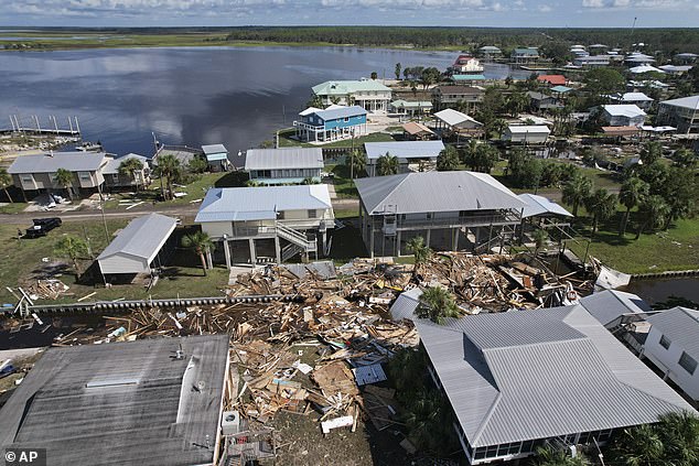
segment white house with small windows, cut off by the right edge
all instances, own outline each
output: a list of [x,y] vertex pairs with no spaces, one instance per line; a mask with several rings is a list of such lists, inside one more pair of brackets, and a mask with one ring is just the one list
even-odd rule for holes
[[699,401],[699,311],[673,307],[647,318],[642,358],[657,366],[689,398]]

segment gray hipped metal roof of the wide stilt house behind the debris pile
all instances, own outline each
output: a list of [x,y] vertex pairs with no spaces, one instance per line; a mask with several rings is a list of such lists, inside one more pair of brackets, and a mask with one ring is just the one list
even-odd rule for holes
[[[359,198],[372,214],[520,210],[526,204],[493,176],[477,172],[424,172],[358,178]],[[387,207],[389,207],[387,209]]]

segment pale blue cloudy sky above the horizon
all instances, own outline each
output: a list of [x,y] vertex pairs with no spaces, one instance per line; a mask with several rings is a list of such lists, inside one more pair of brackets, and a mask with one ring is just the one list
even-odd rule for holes
[[699,26],[699,0],[0,0],[19,26]]

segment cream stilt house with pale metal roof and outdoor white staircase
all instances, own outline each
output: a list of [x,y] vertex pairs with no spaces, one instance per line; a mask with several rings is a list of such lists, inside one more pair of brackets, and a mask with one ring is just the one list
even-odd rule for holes
[[223,245],[230,268],[232,260],[257,263],[260,256],[280,263],[322,254],[335,215],[325,184],[225,187],[208,189],[194,223]]

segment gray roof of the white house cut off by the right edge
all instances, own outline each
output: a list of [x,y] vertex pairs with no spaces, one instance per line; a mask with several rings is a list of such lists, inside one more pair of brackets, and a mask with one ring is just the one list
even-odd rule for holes
[[673,307],[649,316],[646,321],[653,328],[667,336],[689,356],[699,360],[699,311]]

